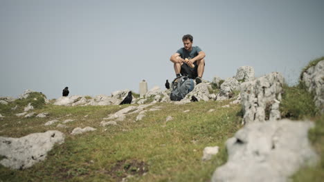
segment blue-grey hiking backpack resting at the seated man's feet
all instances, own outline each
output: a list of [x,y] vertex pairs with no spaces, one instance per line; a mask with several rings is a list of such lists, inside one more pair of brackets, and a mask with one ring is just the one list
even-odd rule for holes
[[170,94],[171,101],[181,101],[186,94],[195,88],[195,83],[187,76],[182,76],[172,81],[172,91]]

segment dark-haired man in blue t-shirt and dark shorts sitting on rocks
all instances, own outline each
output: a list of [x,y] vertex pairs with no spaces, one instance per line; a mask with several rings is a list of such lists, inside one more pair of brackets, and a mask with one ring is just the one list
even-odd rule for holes
[[205,52],[198,46],[192,46],[193,37],[186,34],[182,37],[183,48],[177,50],[170,57],[170,61],[174,63],[174,71],[177,77],[188,75],[190,79],[196,79],[196,83],[201,83],[201,77],[205,69]]

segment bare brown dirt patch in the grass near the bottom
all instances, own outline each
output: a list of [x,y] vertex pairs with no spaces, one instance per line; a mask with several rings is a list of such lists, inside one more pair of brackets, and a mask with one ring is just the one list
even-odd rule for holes
[[117,161],[111,170],[107,171],[116,181],[122,181],[127,176],[142,176],[146,172],[148,172],[147,164],[136,160]]

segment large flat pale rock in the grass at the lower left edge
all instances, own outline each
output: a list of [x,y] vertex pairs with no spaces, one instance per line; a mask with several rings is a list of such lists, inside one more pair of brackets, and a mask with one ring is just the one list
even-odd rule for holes
[[6,157],[0,163],[16,170],[30,168],[35,163],[44,161],[55,143],[63,142],[64,134],[55,130],[28,134],[21,138],[0,136],[0,155]]

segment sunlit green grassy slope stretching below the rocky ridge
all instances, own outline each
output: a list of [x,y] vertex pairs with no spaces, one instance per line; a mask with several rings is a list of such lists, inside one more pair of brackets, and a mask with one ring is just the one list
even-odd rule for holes
[[[117,126],[101,127],[100,121],[123,105],[63,107],[45,105],[34,112],[49,112],[46,119],[15,117],[12,111],[0,110],[5,119],[1,136],[21,137],[33,132],[60,130],[65,142],[48,152],[46,161],[26,170],[0,166],[1,181],[121,181],[133,174],[132,181],[208,181],[218,165],[226,162],[224,142],[240,128],[240,105],[221,108],[226,102],[201,102],[186,105],[159,103],[159,111],[134,122],[137,114],[128,115]],[[9,105],[10,106],[10,105]],[[9,106],[6,106],[7,108]],[[214,112],[208,112],[211,108]],[[183,113],[184,110],[190,112]],[[17,111],[19,112],[19,111]],[[17,113],[15,112],[15,113]],[[66,117],[66,114],[71,114]],[[88,117],[84,117],[88,115]],[[174,120],[165,123],[167,116]],[[75,119],[69,128],[44,126],[51,119]],[[71,136],[76,127],[91,126],[95,132]],[[202,162],[206,146],[220,147],[211,161]],[[136,171],[138,170],[138,171]],[[143,176],[142,174],[146,174]]]

